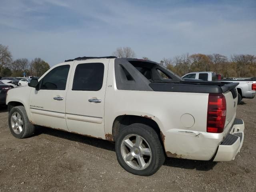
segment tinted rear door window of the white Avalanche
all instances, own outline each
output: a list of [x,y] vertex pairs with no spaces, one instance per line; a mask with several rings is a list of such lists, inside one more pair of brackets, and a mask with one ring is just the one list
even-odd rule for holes
[[103,63],[82,63],[76,66],[72,90],[98,91],[104,77]]

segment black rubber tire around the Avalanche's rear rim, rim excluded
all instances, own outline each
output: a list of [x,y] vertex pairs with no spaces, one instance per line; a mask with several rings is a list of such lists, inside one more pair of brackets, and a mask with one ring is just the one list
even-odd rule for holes
[[[142,170],[132,168],[130,165],[128,165],[128,163],[126,163],[122,156],[122,141],[124,138],[131,134],[136,134],[142,137],[144,140],[146,140],[148,146],[151,149],[151,161],[149,162],[148,166]],[[135,175],[150,176],[154,174],[162,166],[165,160],[164,151],[159,140],[158,134],[153,128],[145,124],[135,123],[123,128],[117,136],[115,148],[119,164],[126,171]],[[137,158],[134,158],[134,160],[137,161]]]

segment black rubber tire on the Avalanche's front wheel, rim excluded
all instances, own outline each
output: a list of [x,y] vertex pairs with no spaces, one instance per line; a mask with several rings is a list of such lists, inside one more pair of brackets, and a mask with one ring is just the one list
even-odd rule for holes
[[[23,125],[22,125],[22,131],[20,133],[15,133],[14,130],[12,129],[12,116],[13,114],[18,113],[21,116]],[[16,138],[22,139],[31,136],[34,134],[35,126],[29,121],[26,110],[24,106],[16,106],[12,108],[9,112],[9,128],[12,133],[12,135]]]

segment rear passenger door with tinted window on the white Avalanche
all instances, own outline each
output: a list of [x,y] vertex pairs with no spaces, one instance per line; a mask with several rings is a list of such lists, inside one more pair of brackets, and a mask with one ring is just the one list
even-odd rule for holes
[[66,97],[70,132],[105,138],[104,99],[109,60],[75,61]]

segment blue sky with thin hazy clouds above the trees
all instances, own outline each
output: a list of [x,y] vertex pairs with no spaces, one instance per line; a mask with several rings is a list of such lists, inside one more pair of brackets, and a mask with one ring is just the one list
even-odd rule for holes
[[53,66],[130,47],[160,62],[189,53],[256,55],[256,0],[1,0],[0,44]]

